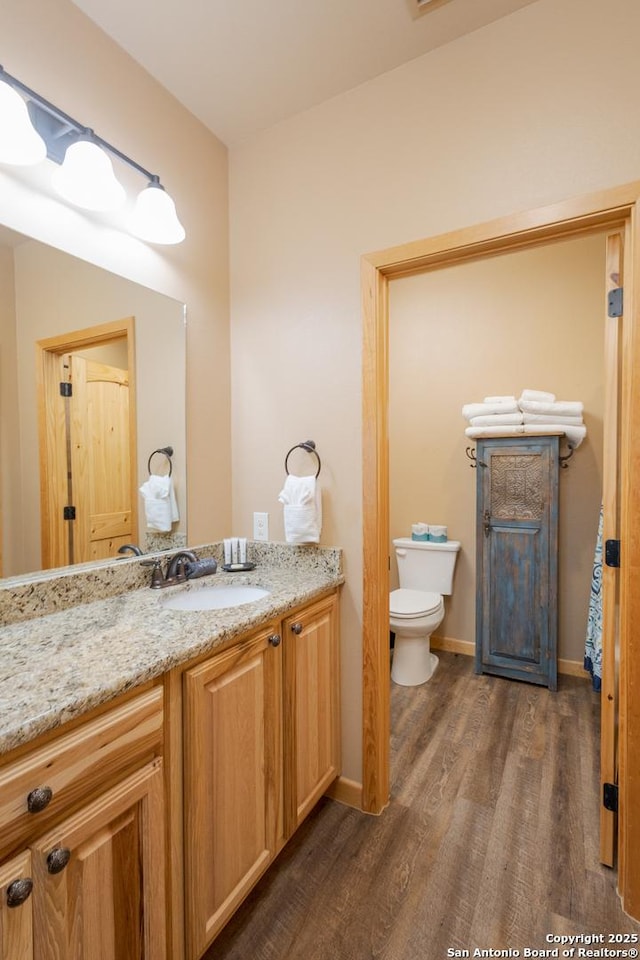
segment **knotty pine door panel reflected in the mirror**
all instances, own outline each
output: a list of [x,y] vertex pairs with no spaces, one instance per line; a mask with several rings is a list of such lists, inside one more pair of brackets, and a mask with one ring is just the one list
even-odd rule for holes
[[116,555],[130,543],[132,491],[127,370],[68,358],[74,563]]

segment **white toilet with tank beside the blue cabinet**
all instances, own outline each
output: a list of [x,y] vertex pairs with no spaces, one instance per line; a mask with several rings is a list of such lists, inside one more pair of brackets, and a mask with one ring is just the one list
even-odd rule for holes
[[391,679],[403,687],[426,683],[438,666],[430,650],[444,617],[443,594],[451,594],[460,542],[393,541],[400,588],[389,595],[389,626],[396,635]]

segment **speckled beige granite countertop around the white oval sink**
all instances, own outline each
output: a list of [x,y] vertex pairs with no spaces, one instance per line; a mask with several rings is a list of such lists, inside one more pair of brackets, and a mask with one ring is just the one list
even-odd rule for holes
[[[234,635],[278,620],[343,581],[340,560],[265,563],[251,573],[222,572],[163,590],[131,589],[3,626],[0,754],[215,650]],[[230,583],[270,593],[222,610],[177,611],[162,605],[177,591]]]

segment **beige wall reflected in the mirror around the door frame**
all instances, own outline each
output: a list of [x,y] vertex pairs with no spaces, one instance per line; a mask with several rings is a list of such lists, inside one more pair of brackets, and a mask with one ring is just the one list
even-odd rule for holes
[[[5,575],[42,566],[34,345],[96,324],[135,318],[137,476],[139,483],[146,479],[152,450],[174,447],[173,478],[181,517],[176,529],[187,529],[183,305],[42,243],[18,244],[14,262],[18,373],[14,409],[20,414],[21,502],[16,536],[7,543]],[[141,533],[135,539],[144,546],[141,500],[138,507]]]

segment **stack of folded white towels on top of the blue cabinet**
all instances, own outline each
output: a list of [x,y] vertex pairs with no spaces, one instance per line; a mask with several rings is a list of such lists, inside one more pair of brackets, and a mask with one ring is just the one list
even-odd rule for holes
[[557,400],[546,390],[523,390],[520,397],[485,397],[482,403],[467,403],[462,415],[470,426],[468,437],[544,434],[562,431],[571,446],[579,447],[587,435],[579,400]]

